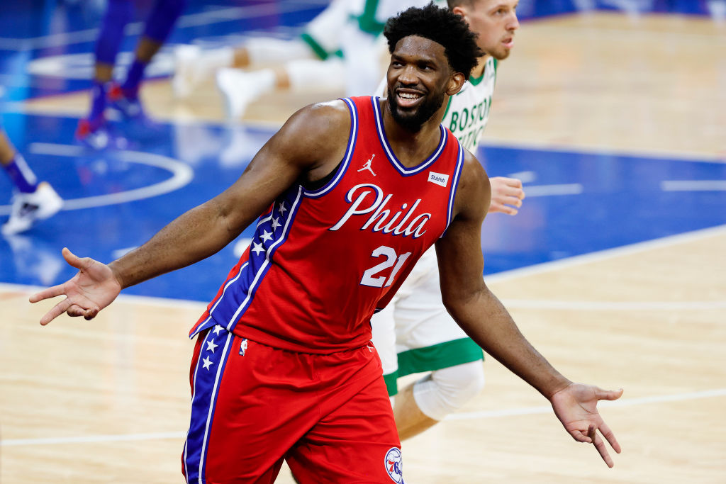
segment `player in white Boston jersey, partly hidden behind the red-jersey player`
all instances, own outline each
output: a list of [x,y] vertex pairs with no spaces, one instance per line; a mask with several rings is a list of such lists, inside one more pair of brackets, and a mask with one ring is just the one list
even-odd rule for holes
[[[449,0],[448,4],[477,34],[478,46],[486,53],[462,90],[449,97],[443,121],[466,149],[476,153],[489,119],[497,62],[509,56],[519,27],[518,0]],[[381,83],[377,91],[385,89]],[[524,198],[521,181],[504,177],[489,181],[489,212],[515,215]],[[441,303],[433,250],[423,255],[391,304],[371,323],[401,440],[440,422],[484,387],[481,348]],[[429,373],[399,393],[396,378],[420,372]]]

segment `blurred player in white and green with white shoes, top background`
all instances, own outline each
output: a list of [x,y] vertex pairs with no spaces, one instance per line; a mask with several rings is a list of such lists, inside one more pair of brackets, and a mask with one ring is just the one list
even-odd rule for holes
[[[407,7],[430,1],[333,0],[293,40],[250,38],[237,49],[181,46],[175,52],[174,93],[186,97],[205,78],[216,75],[230,120],[240,118],[250,102],[274,89],[370,94],[383,65],[383,24]],[[250,67],[254,70],[242,70]]]

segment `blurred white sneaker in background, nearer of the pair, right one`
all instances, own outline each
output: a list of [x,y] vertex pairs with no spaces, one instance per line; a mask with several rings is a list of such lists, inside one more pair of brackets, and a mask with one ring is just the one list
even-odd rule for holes
[[217,88],[222,95],[227,119],[241,118],[248,104],[274,89],[274,83],[274,72],[269,69],[245,72],[227,68],[217,71]]

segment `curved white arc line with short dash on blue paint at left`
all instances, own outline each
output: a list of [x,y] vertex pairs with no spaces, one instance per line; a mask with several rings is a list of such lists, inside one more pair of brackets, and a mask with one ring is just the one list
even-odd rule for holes
[[[89,151],[83,147],[68,144],[33,143],[28,151],[38,155],[53,155],[79,157],[86,155]],[[181,163],[174,158],[154,155],[152,153],[123,151],[115,154],[118,160],[127,163],[140,163],[142,165],[155,166],[171,172],[171,178],[160,181],[157,184],[142,186],[141,188],[125,190],[118,193],[97,195],[94,197],[82,197],[63,200],[61,210],[80,210],[81,208],[103,207],[106,205],[118,205],[135,200],[145,200],[158,195],[174,192],[182,186],[186,186],[194,178],[194,172],[188,165]],[[0,205],[0,215],[8,215],[11,205]]]

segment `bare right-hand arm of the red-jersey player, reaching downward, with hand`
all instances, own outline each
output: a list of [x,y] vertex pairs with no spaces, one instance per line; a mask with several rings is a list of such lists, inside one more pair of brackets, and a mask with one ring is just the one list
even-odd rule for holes
[[558,419],[575,440],[594,443],[611,467],[612,459],[596,431],[600,430],[616,452],[620,452],[620,446],[598,414],[597,401],[615,400],[622,390],[605,391],[563,377],[526,340],[504,305],[486,287],[480,237],[491,194],[484,168],[473,155],[467,155],[457,191],[456,215],[446,235],[436,243],[444,305],[481,348],[552,403]]

